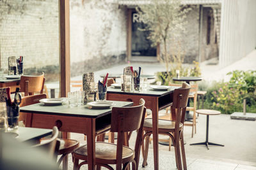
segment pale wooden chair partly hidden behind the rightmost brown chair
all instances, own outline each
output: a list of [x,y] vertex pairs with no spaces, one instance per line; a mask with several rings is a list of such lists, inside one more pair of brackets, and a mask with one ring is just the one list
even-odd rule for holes
[[192,122],[186,122],[186,123],[184,123],[185,126],[191,126],[191,127],[192,127],[191,138],[193,138],[194,127],[195,127],[195,134],[196,134],[196,101],[197,101],[197,90],[198,90],[198,85],[197,85],[197,84],[191,85],[189,98],[192,98],[192,99],[193,99],[193,107],[187,107],[187,111],[193,111],[193,119],[192,119]]

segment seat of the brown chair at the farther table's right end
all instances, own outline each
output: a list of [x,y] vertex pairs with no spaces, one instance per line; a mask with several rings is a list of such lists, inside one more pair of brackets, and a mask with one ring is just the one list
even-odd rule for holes
[[[152,118],[145,118],[143,127],[152,128]],[[168,131],[174,131],[175,130],[175,121],[173,120],[164,120],[159,119],[158,120],[158,129],[164,129]],[[182,129],[182,123],[180,123],[180,130]]]

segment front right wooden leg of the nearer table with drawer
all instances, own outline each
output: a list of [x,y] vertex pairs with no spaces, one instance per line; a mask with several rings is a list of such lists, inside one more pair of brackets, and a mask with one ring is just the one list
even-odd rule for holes
[[89,119],[87,136],[88,169],[95,169],[95,119]]

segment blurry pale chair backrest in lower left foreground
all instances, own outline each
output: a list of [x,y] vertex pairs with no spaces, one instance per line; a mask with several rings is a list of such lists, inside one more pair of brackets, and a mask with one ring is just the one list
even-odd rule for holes
[[57,140],[58,138],[58,128],[56,126],[54,126],[52,128],[52,137],[49,140],[45,140],[44,142],[34,145],[33,147],[39,148],[40,150],[44,150],[44,152],[49,153],[49,156],[56,159],[57,155],[57,151],[60,148],[60,141]]

